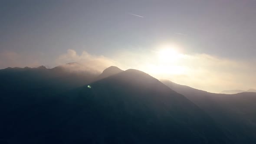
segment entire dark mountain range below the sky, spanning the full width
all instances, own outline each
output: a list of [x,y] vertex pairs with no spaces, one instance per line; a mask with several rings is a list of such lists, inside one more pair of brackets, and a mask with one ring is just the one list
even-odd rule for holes
[[0,70],[1,144],[254,144],[256,93],[214,94],[111,66]]

